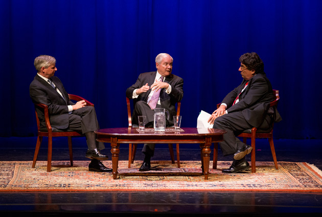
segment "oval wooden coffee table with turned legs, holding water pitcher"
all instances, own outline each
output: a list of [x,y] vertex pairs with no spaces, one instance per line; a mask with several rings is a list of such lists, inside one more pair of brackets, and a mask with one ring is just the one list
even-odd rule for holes
[[99,129],[97,141],[111,143],[113,179],[117,179],[120,144],[122,143],[199,143],[201,148],[201,165],[204,179],[208,179],[210,146],[223,141],[226,131],[212,128],[166,128],[166,132],[154,132],[153,128],[139,131],[139,128],[105,128]]

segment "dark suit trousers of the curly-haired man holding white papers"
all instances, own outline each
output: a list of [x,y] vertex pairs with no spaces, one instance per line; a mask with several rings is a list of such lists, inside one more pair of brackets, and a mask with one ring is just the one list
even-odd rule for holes
[[[268,129],[270,126],[271,117],[266,115],[260,129]],[[233,155],[236,153],[239,147],[245,145],[236,136],[241,134],[245,129],[252,128],[246,119],[244,118],[242,112],[228,113],[215,119],[214,127],[216,129],[224,129],[227,131],[223,135],[224,141],[220,142],[220,148],[222,150],[223,156]]]

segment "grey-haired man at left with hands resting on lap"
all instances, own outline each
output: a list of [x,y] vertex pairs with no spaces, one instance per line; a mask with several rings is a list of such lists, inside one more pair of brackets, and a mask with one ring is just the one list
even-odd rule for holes
[[[58,77],[54,76],[57,71],[54,57],[40,55],[35,58],[34,65],[37,75],[29,87],[30,97],[34,104],[43,103],[48,106],[53,132],[72,130],[84,134],[88,146],[85,157],[91,159],[88,170],[112,171],[101,162],[101,160],[107,160],[108,157],[100,153],[100,150],[104,149],[104,144],[96,142],[94,131],[99,129],[99,124],[95,108],[86,106],[84,100],[74,103],[69,99],[63,84]],[[38,113],[40,128],[46,130],[43,110],[36,105],[35,108]]]

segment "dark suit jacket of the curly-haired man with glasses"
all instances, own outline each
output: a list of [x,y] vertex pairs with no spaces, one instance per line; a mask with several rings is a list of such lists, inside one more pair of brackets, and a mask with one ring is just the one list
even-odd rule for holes
[[[257,74],[248,80],[246,89],[239,95],[239,102],[232,106],[246,82],[247,80],[243,79],[237,88],[226,95],[222,103],[227,104],[228,113],[241,111],[250,125],[259,127],[267,115],[269,103],[275,100],[276,96],[273,94],[272,86],[266,75]],[[280,119],[279,114],[277,117]]]

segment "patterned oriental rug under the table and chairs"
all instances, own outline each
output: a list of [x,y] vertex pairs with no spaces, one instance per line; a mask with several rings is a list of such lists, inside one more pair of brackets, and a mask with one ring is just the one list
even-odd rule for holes
[[[308,163],[257,162],[257,172],[225,174],[231,162],[219,161],[218,169],[210,169],[208,180],[201,174],[200,161],[181,161],[181,168],[169,161],[152,161],[153,170],[139,172],[141,161],[127,168],[119,162],[117,180],[111,173],[89,172],[89,161],[53,161],[46,172],[46,161],[0,162],[0,191],[297,191],[322,192],[322,171]],[[111,161],[104,165],[111,167]],[[212,162],[210,165],[212,168]],[[156,173],[158,172],[158,174]]]

